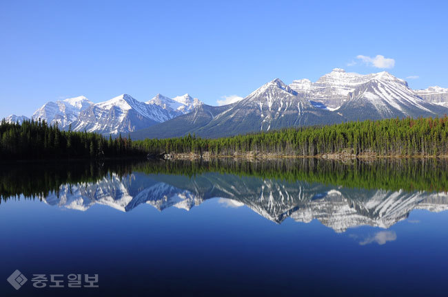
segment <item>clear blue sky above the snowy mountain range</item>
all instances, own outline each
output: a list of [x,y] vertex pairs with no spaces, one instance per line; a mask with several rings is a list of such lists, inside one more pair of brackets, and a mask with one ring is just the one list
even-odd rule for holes
[[0,118],[80,95],[216,104],[334,67],[448,87],[446,1],[68,2],[1,1]]

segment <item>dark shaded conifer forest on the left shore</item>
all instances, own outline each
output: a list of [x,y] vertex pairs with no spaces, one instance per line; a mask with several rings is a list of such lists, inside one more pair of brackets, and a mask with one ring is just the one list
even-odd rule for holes
[[130,137],[106,139],[97,133],[61,131],[45,120],[0,124],[0,157],[9,159],[90,159],[144,155]]

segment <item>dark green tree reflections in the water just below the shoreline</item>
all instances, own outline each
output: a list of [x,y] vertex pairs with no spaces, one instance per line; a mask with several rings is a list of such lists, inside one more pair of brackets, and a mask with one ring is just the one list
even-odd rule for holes
[[320,184],[383,190],[446,191],[448,162],[445,159],[380,159],[378,161],[339,162],[323,159],[277,159],[236,161],[139,161],[108,162],[33,162],[3,164],[0,171],[0,196],[3,200],[23,195],[45,197],[58,192],[63,184],[92,183],[112,173],[119,176],[133,171],[194,177],[203,173],[307,181]]

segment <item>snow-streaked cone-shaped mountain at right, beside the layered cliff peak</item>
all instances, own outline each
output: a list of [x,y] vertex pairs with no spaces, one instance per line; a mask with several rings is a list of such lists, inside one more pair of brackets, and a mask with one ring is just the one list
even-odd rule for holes
[[380,72],[349,93],[338,113],[347,120],[418,118],[443,115],[448,109],[422,100],[405,80]]

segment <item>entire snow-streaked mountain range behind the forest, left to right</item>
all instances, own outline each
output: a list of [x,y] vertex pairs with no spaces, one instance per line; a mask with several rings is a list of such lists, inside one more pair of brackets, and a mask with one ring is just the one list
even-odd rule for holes
[[[387,72],[363,75],[335,68],[315,83],[301,79],[286,85],[276,78],[243,100],[219,107],[188,94],[174,98],[158,94],[147,102],[123,94],[96,104],[79,96],[48,102],[31,118],[57,123],[66,130],[130,133],[133,139],[143,139],[187,133],[219,137],[289,126],[447,113],[448,89],[413,90],[405,80]],[[17,115],[6,118],[8,122],[27,119]]]

